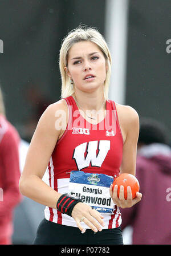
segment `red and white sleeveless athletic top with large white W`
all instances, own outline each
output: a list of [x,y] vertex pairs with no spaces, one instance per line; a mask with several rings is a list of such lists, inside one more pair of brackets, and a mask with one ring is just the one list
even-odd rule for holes
[[[116,177],[119,175],[123,156],[123,136],[114,101],[106,101],[104,120],[91,124],[80,114],[74,97],[64,99],[68,105],[68,124],[56,143],[47,169],[49,185],[62,194],[68,193],[72,170]],[[77,227],[72,217],[48,206],[44,209],[44,215],[48,221]],[[102,215],[105,223],[103,229],[120,226],[121,213],[116,205],[111,214]],[[83,222],[82,226],[88,228]]]

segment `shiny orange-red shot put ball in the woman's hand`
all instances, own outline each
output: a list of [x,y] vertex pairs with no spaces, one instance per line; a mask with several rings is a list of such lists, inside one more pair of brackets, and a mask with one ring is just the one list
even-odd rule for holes
[[140,190],[139,181],[135,176],[130,173],[122,173],[115,178],[113,181],[113,190],[115,185],[117,185],[117,196],[119,197],[120,186],[124,186],[124,197],[127,199],[127,186],[131,187],[132,199],[136,197],[136,192]]

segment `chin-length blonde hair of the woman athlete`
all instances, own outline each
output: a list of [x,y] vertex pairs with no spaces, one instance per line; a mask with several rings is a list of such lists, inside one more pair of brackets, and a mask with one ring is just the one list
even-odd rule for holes
[[100,50],[103,52],[105,61],[108,66],[106,79],[104,82],[104,97],[105,99],[108,99],[112,64],[111,53],[109,52],[109,48],[107,46],[107,43],[105,42],[103,35],[101,35],[97,29],[88,26],[79,26],[76,29],[71,30],[68,35],[62,40],[62,47],[60,48],[59,54],[59,68],[62,79],[61,97],[68,97],[72,95],[75,91],[74,86],[71,86],[71,79],[67,75],[67,72],[64,68],[68,66],[68,51],[75,43],[81,41],[93,42],[97,46],[99,46]]

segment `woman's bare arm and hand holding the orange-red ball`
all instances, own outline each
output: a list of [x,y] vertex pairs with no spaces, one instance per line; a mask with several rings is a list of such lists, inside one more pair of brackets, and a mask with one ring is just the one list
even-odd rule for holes
[[[137,156],[137,141],[139,139],[139,115],[129,106],[123,106],[124,113],[122,115],[122,125],[126,134],[126,139],[123,145],[123,160],[120,166],[121,173],[131,173],[136,175],[136,156]],[[110,188],[110,194],[113,202],[121,208],[130,208],[137,204],[141,200],[142,194],[137,192],[136,198],[132,200],[131,188],[127,188],[127,200],[124,198],[124,187],[120,186],[120,194],[117,196],[117,185],[115,185],[112,191],[112,185]]]

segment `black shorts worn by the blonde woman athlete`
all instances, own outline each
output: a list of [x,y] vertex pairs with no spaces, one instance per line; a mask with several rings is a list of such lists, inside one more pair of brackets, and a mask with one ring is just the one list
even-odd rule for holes
[[47,221],[40,222],[34,245],[123,245],[121,227],[103,229],[94,233],[87,229],[84,234],[78,227],[71,227]]

